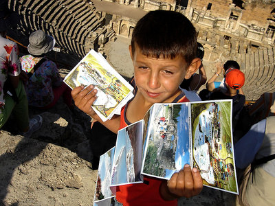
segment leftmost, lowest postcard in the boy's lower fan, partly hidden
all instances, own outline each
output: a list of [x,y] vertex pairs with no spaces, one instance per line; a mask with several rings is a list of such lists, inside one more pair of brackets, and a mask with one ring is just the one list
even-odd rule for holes
[[[98,178],[96,181],[96,191],[94,195],[94,205],[111,205],[115,196],[115,187],[110,188],[111,168],[115,148],[100,156],[98,165]],[[112,190],[111,190],[112,189]]]

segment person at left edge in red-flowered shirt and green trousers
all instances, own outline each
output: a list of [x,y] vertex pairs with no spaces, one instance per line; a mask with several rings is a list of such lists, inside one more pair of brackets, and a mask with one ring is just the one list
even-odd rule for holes
[[40,115],[29,119],[28,99],[20,80],[21,67],[17,43],[5,38],[9,26],[17,19],[8,10],[8,1],[0,3],[0,128],[13,113],[23,136],[30,137],[39,130],[43,119]]

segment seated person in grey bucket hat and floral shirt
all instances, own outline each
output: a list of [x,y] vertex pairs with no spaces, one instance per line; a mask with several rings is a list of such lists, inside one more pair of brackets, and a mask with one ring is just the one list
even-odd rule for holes
[[45,57],[52,51],[56,41],[42,30],[32,32],[29,37],[28,52],[21,57],[23,71],[28,73],[25,84],[30,106],[51,108],[63,95],[67,106],[72,106],[71,89],[63,82],[56,64]]

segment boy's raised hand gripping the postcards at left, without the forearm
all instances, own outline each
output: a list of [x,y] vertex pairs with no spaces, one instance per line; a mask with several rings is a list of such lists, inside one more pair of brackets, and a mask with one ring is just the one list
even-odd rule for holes
[[74,99],[74,104],[87,113],[87,115],[94,117],[96,115],[95,111],[91,108],[91,105],[96,100],[97,90],[94,89],[93,85],[89,85],[84,89],[84,86],[81,85],[72,90],[72,98]]

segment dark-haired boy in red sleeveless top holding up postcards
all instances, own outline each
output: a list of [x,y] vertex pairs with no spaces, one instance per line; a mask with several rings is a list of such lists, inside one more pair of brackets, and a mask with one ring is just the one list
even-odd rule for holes
[[[154,103],[189,102],[179,84],[199,68],[196,51],[195,27],[184,15],[163,10],[148,12],[137,22],[129,45],[135,97],[122,108],[121,115],[107,122],[98,118],[91,109],[96,100],[92,85],[86,89],[76,87],[72,97],[78,108],[118,133],[118,129],[142,119]],[[202,187],[199,171],[185,165],[169,181],[144,176],[144,183],[119,186],[116,198],[123,205],[177,205],[177,198],[197,195]]]

